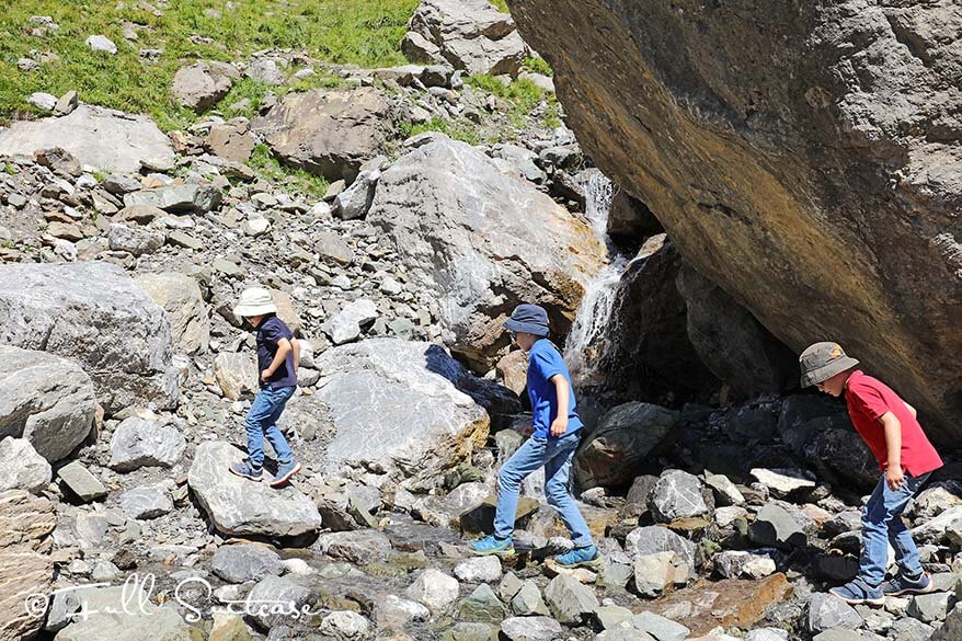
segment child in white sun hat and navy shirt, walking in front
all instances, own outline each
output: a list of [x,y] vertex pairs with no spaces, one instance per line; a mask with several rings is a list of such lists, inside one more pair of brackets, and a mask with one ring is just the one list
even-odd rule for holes
[[260,481],[264,465],[264,436],[277,455],[277,476],[272,488],[287,483],[300,471],[277,420],[297,388],[300,345],[288,327],[277,318],[271,293],[260,287],[244,289],[233,312],[247,319],[257,332],[257,371],[261,391],[254,397],[244,427],[248,432],[248,457],[230,466],[239,477]]

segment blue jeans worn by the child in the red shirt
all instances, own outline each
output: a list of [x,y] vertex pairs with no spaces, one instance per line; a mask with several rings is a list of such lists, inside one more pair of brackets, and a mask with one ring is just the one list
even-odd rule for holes
[[918,491],[928,474],[912,477],[905,472],[905,482],[896,491],[889,489],[885,473],[879,479],[869,502],[862,508],[862,554],[859,576],[869,585],[879,585],[885,579],[889,564],[889,543],[895,550],[895,562],[903,574],[915,576],[921,572],[918,548],[902,520],[902,511]]

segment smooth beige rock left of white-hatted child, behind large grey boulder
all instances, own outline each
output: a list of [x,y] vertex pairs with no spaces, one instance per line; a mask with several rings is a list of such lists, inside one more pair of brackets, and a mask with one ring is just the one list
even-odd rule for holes
[[137,285],[167,312],[171,340],[179,352],[196,354],[210,343],[210,319],[201,287],[179,272],[141,274]]

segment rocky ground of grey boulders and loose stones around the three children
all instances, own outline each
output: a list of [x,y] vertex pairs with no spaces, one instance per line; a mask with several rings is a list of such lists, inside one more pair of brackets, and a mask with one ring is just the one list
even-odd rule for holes
[[[428,0],[401,46],[419,64],[252,117],[217,115],[231,83],[304,60],[185,65],[185,130],[69,94],[0,129],[0,639],[962,638],[960,463],[906,513],[938,591],[827,596],[878,474],[844,407],[783,393],[786,348],[646,207],[608,216],[508,16]],[[501,322],[539,301],[563,336],[620,251],[609,329],[575,354],[600,373],[575,484],[605,561],[552,566],[571,542],[537,476],[519,552],[470,558],[523,440]],[[304,345],[282,428],[306,469],[280,490],[227,472],[255,284]]]

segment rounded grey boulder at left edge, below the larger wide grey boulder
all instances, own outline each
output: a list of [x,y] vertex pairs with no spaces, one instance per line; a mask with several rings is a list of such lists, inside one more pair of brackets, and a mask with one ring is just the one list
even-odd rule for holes
[[23,437],[55,462],[90,434],[96,413],[93,382],[76,363],[0,345],[0,438]]

